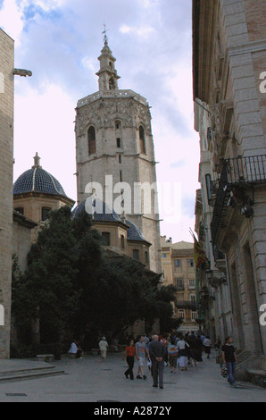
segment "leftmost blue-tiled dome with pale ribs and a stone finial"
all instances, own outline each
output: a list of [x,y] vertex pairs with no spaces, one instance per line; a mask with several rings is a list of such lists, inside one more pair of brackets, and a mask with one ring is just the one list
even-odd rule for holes
[[56,194],[66,197],[61,183],[38,164],[40,158],[37,154],[34,159],[35,165],[28,171],[23,172],[17,181],[15,181],[13,185],[13,194],[40,192],[43,194]]

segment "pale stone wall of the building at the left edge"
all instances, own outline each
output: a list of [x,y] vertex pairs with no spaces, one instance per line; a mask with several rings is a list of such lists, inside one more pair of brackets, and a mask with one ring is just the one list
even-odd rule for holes
[[0,29],[0,358],[9,357],[12,283],[13,40]]

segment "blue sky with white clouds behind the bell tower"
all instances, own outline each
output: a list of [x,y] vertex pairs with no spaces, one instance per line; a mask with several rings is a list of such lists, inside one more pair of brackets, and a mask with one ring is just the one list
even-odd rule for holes
[[[191,0],[0,0],[0,27],[15,41],[14,66],[32,71],[15,76],[14,181],[37,152],[42,167],[77,199],[75,107],[98,90],[104,24],[119,88],[151,106],[161,235],[191,242],[200,158]],[[167,188],[177,191],[169,205]]]

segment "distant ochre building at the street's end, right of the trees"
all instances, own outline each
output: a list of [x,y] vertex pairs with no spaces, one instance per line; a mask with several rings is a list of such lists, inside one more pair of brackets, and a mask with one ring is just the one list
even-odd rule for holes
[[163,285],[176,287],[173,305],[174,317],[182,319],[179,332],[197,331],[198,312],[196,305],[196,283],[194,244],[161,237]]

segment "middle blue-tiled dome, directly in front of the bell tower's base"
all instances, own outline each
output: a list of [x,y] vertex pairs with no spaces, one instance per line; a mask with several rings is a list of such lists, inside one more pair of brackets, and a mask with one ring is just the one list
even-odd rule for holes
[[121,222],[119,215],[99,198],[88,198],[80,203],[79,206],[75,207],[72,214],[74,217],[77,217],[83,211],[91,214],[93,220],[96,222]]

